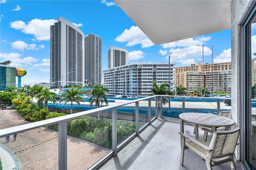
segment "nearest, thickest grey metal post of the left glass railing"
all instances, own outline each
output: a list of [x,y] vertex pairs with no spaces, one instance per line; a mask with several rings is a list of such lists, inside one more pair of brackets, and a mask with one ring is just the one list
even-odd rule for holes
[[67,121],[58,123],[59,170],[67,170]]

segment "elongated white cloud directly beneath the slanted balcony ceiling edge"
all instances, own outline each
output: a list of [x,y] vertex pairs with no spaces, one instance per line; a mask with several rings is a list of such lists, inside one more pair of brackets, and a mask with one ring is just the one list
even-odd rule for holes
[[210,41],[211,37],[198,36],[195,38],[187,38],[176,42],[170,42],[162,44],[163,48],[174,48],[174,47],[189,47],[192,45],[202,45],[207,41]]

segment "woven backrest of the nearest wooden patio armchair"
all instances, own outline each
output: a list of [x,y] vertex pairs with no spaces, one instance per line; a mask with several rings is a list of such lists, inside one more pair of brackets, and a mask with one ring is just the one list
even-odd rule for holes
[[240,128],[234,128],[228,131],[216,131],[212,136],[210,148],[213,152],[208,152],[207,157],[221,158],[228,154],[233,154],[237,145],[237,140],[240,134]]

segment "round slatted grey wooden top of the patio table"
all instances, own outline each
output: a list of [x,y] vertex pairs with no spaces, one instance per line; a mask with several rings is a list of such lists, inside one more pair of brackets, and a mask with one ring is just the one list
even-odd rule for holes
[[232,119],[210,113],[181,113],[179,117],[183,121],[208,127],[227,127],[235,124]]

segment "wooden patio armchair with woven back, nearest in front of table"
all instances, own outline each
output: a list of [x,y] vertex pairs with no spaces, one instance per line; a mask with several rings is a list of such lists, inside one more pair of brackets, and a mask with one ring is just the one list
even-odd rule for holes
[[[230,163],[232,169],[236,169],[233,154],[240,134],[240,128],[214,132],[210,144],[202,139],[195,140],[182,132],[179,132],[179,134],[181,138],[180,164],[182,166],[184,150],[189,148],[205,160],[208,170],[212,170],[212,166],[226,162]],[[186,141],[186,139],[189,141]]]

